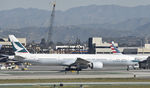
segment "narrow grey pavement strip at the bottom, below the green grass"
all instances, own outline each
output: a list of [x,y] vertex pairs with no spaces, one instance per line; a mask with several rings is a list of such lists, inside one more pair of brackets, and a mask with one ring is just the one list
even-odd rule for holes
[[150,82],[54,82],[54,83],[6,83],[0,86],[52,86],[52,85],[150,85]]

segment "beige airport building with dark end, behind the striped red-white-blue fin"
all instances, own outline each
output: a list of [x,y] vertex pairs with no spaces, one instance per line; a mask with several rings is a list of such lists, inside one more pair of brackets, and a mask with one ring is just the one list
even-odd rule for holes
[[[114,44],[118,47],[118,43]],[[101,37],[91,37],[88,40],[89,54],[111,54],[111,44],[103,42]],[[123,54],[150,54],[150,44],[145,44],[143,47],[118,47],[118,50]]]

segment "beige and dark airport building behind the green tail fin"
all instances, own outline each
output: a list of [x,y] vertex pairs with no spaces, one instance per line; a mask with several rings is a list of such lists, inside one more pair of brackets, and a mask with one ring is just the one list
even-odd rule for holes
[[[26,46],[26,38],[18,38],[18,40],[23,45]],[[8,38],[0,38],[0,44],[2,45],[2,49],[0,50],[0,53],[8,54],[8,55],[14,54],[12,50],[11,42],[9,42]]]

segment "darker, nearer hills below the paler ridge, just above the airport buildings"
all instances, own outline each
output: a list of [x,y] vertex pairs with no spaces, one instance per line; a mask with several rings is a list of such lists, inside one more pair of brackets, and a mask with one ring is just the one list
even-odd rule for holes
[[[8,37],[9,34],[14,34],[17,37],[26,37],[28,42],[36,41],[40,42],[42,38],[47,38],[48,28],[45,27],[26,27],[20,29],[6,29],[0,32],[1,37]],[[80,38],[81,41],[87,41],[89,37],[118,37],[118,36],[126,36],[130,33],[124,34],[125,31],[116,31],[104,28],[93,28],[93,27],[83,27],[83,26],[59,26],[54,27],[53,37],[54,42],[75,42],[77,38]]]

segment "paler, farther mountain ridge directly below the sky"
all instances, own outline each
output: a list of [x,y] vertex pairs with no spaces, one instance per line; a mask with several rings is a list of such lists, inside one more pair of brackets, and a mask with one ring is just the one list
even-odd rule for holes
[[[115,5],[82,6],[56,11],[56,25],[115,24],[129,19],[150,18],[150,6],[121,7]],[[48,26],[50,11],[35,8],[0,11],[1,28]]]

